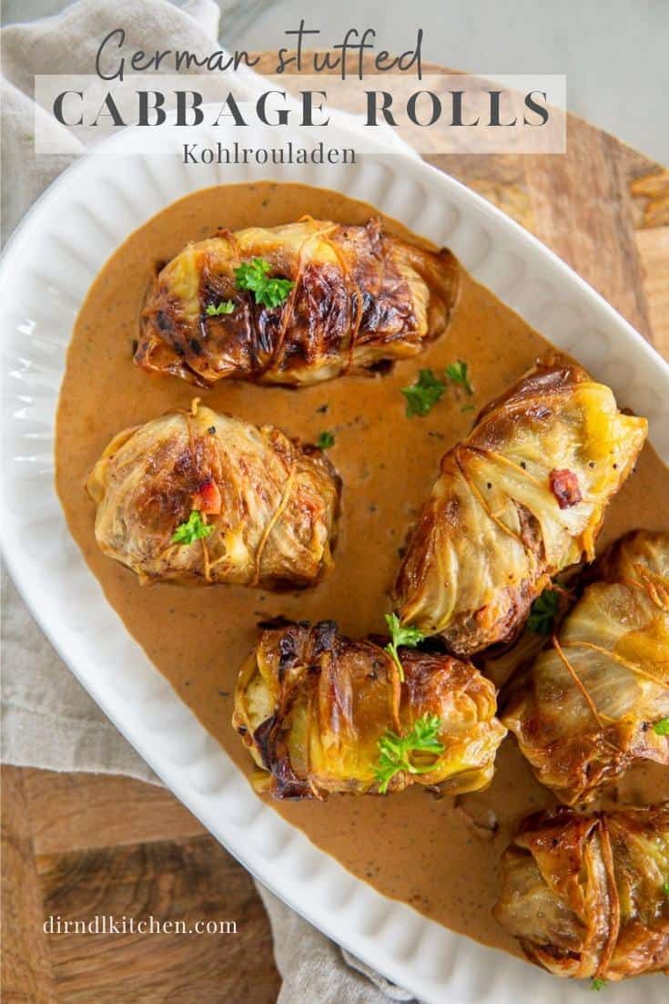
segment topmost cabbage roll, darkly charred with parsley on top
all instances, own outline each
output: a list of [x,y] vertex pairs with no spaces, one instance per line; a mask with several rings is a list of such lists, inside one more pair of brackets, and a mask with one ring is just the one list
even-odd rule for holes
[[448,251],[378,220],[224,230],[158,273],[134,361],[202,387],[315,384],[421,351],[447,328],[457,288]]

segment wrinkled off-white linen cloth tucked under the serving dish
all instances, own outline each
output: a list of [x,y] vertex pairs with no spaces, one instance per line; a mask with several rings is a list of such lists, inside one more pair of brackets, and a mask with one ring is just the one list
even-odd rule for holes
[[[40,128],[62,129],[36,108],[37,73],[89,73],[97,45],[122,25],[132,49],[180,48],[211,51],[219,33],[214,0],[79,0],[55,17],[17,24],[1,32],[2,220],[3,240],[30,204],[73,158],[85,153],[69,134],[58,156],[34,154],[35,116]],[[262,78],[250,73],[248,96],[260,93]],[[236,93],[244,96],[240,80]],[[159,783],[144,761],[77,683],[32,619],[3,572],[2,760],[49,770],[127,774]],[[274,933],[283,977],[279,1004],[383,1004],[411,995],[388,983],[329,941],[267,890],[259,887]]]

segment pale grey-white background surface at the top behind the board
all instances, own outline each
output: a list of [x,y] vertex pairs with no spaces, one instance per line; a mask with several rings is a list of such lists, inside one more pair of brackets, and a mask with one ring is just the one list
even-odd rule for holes
[[[113,0],[109,0],[110,5]],[[487,74],[565,73],[568,107],[669,164],[669,0],[218,0],[227,47],[278,49],[283,32],[320,28],[322,47],[374,27],[401,51],[424,29],[423,55]],[[52,14],[63,0],[4,0],[4,23]],[[316,37],[316,36],[313,36]]]

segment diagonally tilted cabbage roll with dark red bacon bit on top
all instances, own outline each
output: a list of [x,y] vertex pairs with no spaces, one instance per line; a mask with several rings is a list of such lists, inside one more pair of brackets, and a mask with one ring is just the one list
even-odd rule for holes
[[581,366],[539,364],[443,457],[395,582],[401,621],[456,655],[511,641],[551,577],[593,558],[646,433]]

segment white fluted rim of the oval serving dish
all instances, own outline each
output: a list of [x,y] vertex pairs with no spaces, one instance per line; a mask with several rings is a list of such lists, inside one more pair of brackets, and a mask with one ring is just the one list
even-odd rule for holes
[[[448,245],[501,300],[609,383],[621,406],[647,415],[666,462],[669,366],[552,252],[421,162],[378,155],[353,166],[185,166],[169,152],[183,136],[168,132],[157,143],[146,132],[124,131],[65,172],[28,213],[0,265],[0,542],[14,581],[72,672],[164,783],[316,927],[429,1004],[582,999],[587,985],[550,977],[380,896],[254,794],[127,634],[67,531],[53,478],[58,391],[78,308],[117,245],[196,189],[261,178],[340,190]],[[193,139],[206,145],[219,137],[203,129],[190,131]],[[260,129],[245,131],[245,145],[276,142]],[[647,977],[611,985],[606,997],[634,1004],[643,994],[645,1004],[660,1004],[666,990],[663,977]]]

